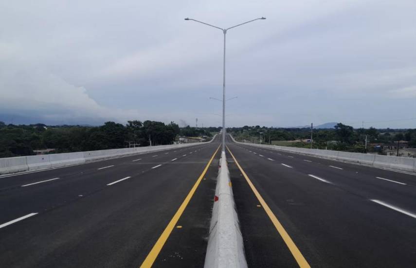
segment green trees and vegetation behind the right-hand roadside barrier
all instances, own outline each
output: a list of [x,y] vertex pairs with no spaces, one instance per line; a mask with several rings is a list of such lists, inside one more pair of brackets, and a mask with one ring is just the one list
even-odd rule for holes
[[[267,128],[260,126],[244,126],[229,128],[236,140],[253,143],[266,143],[281,146],[310,148],[310,128]],[[367,136],[367,152],[383,154],[382,146],[394,145],[398,140],[406,141],[409,147],[416,148],[416,129],[354,129],[338,123],[333,129],[314,129],[313,148],[348,152],[365,152],[365,136]]]

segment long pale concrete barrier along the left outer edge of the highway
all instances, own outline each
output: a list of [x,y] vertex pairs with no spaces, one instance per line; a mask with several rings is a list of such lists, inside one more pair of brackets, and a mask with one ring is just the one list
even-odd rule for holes
[[[212,142],[217,134],[207,143]],[[44,155],[29,155],[19,157],[0,158],[0,174],[9,174],[25,171],[45,170],[56,167],[82,164],[94,160],[109,159],[140,153],[158,152],[172,148],[183,148],[199,145],[201,143],[158,145],[136,148],[110,149],[76,153],[55,153]]]

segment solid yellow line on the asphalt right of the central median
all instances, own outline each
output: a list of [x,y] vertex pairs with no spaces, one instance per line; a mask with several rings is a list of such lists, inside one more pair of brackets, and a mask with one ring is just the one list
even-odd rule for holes
[[310,267],[307,263],[305,257],[302,255],[302,253],[299,251],[298,247],[296,247],[295,243],[293,243],[293,240],[290,238],[288,232],[283,228],[282,224],[279,222],[279,220],[276,218],[276,216],[273,214],[269,206],[264,201],[263,197],[261,197],[260,193],[255,189],[252,181],[247,176],[246,172],[243,171],[240,164],[238,164],[237,159],[235,159],[234,154],[231,153],[230,148],[228,148],[228,152],[230,152],[231,156],[233,156],[233,159],[235,161],[235,164],[240,169],[241,173],[243,174],[244,178],[246,178],[247,183],[250,185],[250,188],[253,190],[255,196],[257,197],[260,204],[263,206],[263,209],[266,211],[267,215],[271,219],[271,222],[273,223],[276,230],[279,232],[280,236],[282,236],[283,240],[286,243],[286,246],[288,246],[290,252],[292,253],[293,257],[295,258],[296,262],[298,263],[299,267],[301,268],[307,268]]

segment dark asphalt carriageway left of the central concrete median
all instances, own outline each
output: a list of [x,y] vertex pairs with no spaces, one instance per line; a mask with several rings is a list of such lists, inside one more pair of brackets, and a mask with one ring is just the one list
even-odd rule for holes
[[139,267],[189,195],[147,264],[203,266],[217,140],[1,177],[0,266]]

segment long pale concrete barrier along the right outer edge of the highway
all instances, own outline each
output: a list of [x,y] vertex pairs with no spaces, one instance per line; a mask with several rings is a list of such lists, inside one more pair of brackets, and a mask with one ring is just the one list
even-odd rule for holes
[[329,158],[329,159],[334,159],[334,160],[339,160],[339,161],[374,166],[377,168],[416,173],[416,158],[244,143],[244,142],[238,142],[234,139],[232,135],[230,136],[235,143],[246,144],[246,145],[250,145],[254,147],[268,148],[268,149],[274,149],[274,150],[285,151],[285,152],[290,152],[290,153],[300,153],[300,154],[311,155],[311,156],[319,156],[319,157]]

